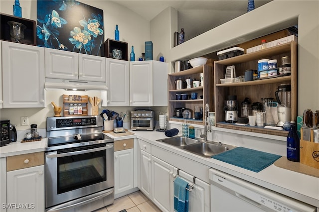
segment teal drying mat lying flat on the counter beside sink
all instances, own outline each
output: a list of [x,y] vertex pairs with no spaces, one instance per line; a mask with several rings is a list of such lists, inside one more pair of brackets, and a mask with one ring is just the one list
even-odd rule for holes
[[253,172],[260,172],[281,158],[281,156],[254,149],[237,147],[218,155],[213,155],[212,158]]

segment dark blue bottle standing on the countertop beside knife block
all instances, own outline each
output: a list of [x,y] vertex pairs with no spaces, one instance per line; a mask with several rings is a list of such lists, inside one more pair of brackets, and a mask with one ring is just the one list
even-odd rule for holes
[[291,121],[291,128],[287,136],[287,159],[299,162],[300,140],[295,121]]

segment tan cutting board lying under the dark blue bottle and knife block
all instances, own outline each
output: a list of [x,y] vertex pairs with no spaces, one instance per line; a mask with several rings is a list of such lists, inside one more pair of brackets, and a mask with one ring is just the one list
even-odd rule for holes
[[319,171],[316,168],[307,166],[299,162],[293,162],[287,159],[287,157],[282,156],[279,160],[274,163],[275,166],[288,169],[294,172],[299,172],[302,174],[310,175],[319,178]]

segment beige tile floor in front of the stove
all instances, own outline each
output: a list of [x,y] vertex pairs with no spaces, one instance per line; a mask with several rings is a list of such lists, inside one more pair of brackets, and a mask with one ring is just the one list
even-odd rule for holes
[[120,197],[114,201],[114,204],[94,212],[120,212],[124,209],[127,212],[160,212],[160,209],[140,191]]

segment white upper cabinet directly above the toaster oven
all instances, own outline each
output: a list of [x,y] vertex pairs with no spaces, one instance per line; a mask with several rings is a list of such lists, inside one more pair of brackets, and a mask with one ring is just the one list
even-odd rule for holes
[[168,64],[130,62],[130,106],[167,106]]

